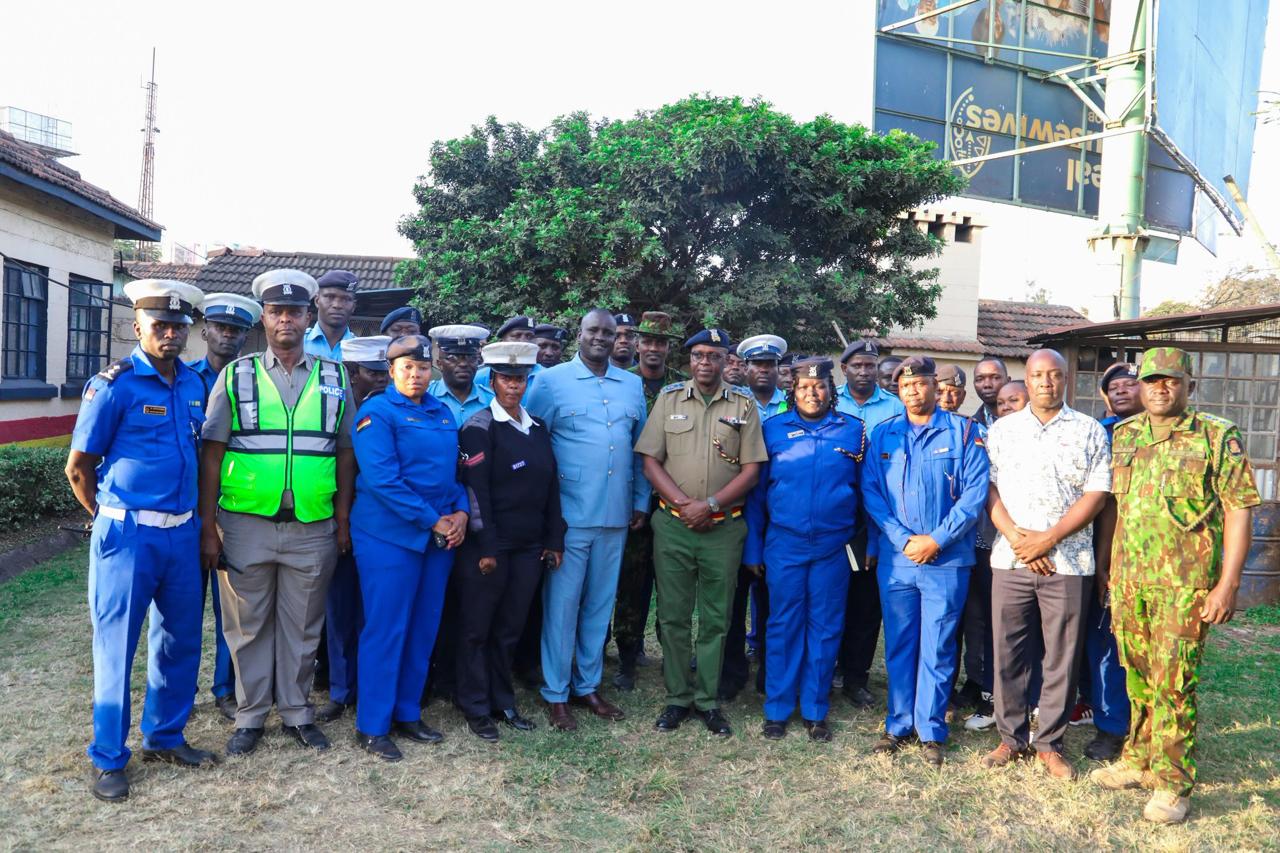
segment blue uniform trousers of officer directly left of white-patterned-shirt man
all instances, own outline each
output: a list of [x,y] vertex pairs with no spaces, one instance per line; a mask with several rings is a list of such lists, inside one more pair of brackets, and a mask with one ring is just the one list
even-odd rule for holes
[[879,566],[888,715],[884,730],[947,739],[947,701],[956,675],[956,630],[969,567]]

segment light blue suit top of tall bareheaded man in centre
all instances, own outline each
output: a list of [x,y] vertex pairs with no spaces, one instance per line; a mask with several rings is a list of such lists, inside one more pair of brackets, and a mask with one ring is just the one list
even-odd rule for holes
[[649,510],[644,462],[631,450],[646,414],[640,377],[612,364],[596,377],[573,356],[541,373],[526,407],[550,430],[566,524],[622,528]]

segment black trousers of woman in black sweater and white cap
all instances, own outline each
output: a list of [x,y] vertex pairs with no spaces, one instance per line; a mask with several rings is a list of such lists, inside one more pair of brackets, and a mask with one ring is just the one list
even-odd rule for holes
[[543,549],[499,551],[498,566],[480,574],[480,555],[458,551],[451,580],[457,589],[454,703],[472,717],[516,707],[511,661],[543,576]]

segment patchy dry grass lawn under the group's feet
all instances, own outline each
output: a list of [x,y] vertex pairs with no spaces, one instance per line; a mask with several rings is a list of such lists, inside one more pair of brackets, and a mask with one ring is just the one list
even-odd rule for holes
[[[402,743],[406,760],[383,765],[351,739],[351,719],[325,726],[328,753],[269,734],[253,756],[207,771],[131,763],[132,798],[88,793],[92,665],[84,601],[86,551],[55,558],[0,585],[0,847],[140,849],[1280,849],[1280,611],[1254,611],[1215,630],[1201,681],[1201,786],[1192,821],[1140,820],[1144,792],[1060,784],[1034,765],[984,771],[993,733],[955,726],[947,765],[931,771],[909,749],[873,757],[882,719],[833,702],[836,740],[812,744],[800,726],[782,742],[759,735],[760,699],[727,707],[737,733],[718,740],[700,725],[662,735],[657,666],[618,697],[627,720],[549,731],[503,727],[489,745],[452,708],[426,719],[440,747]],[[206,631],[211,631],[211,616]],[[143,643],[145,646],[145,633]],[[221,752],[230,724],[207,685],[187,727],[191,743]],[[649,653],[658,649],[650,642]],[[146,681],[134,667],[134,731]],[[605,678],[612,678],[612,663]],[[883,695],[883,670],[872,688]],[[317,697],[323,698],[323,697]],[[1093,730],[1073,729],[1068,756]]]

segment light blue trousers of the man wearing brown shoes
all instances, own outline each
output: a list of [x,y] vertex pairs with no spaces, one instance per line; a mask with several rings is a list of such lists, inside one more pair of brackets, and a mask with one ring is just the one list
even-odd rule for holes
[[561,567],[543,578],[543,698],[595,693],[618,592],[626,528],[570,528]]

